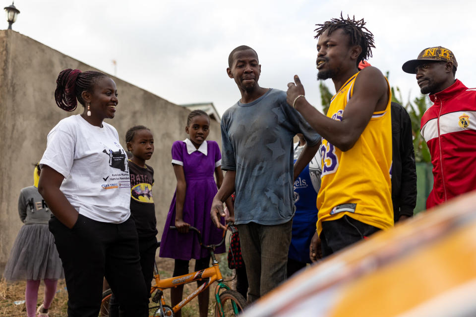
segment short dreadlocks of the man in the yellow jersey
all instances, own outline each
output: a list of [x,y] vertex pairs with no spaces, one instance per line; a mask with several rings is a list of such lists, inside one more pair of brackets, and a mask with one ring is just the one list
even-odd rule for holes
[[362,52],[357,57],[357,65],[359,62],[367,60],[372,57],[372,48],[375,49],[373,42],[373,34],[365,27],[363,18],[356,21],[355,15],[352,19],[347,15],[347,19],[342,16],[340,18],[333,18],[330,21],[326,21],[323,24],[316,24],[317,32],[315,39],[321,36],[325,31],[330,35],[337,29],[342,29],[347,35],[349,35],[351,45],[359,45],[362,48]]

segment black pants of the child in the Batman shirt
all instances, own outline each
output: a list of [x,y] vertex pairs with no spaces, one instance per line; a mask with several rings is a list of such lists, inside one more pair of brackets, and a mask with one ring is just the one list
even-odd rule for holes
[[[139,238],[139,256],[142,275],[144,276],[145,287],[149,290],[152,286],[152,277],[154,276],[155,253],[157,251],[157,238],[155,236]],[[120,311],[120,314],[119,314]],[[109,317],[118,317],[123,315],[123,310],[119,310],[119,301],[114,295],[109,300]]]

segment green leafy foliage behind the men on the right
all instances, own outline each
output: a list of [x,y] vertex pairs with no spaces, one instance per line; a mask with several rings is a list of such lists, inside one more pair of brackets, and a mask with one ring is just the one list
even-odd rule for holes
[[[387,72],[387,78],[388,75],[389,73]],[[430,106],[426,95],[416,97],[413,103],[410,101],[409,98],[408,102],[404,104],[400,88],[391,87],[391,90],[392,102],[396,102],[404,106],[408,114],[410,115],[410,119],[412,121],[413,145],[415,148],[415,160],[417,162],[431,162],[430,151],[428,150],[428,146],[426,145],[425,140],[420,134],[421,116],[423,115],[423,113],[425,113],[428,106]],[[322,111],[324,112],[324,114],[327,114],[333,95],[329,91],[329,88],[327,88],[327,86],[322,81],[319,83],[319,91],[321,93]],[[398,98],[396,92],[398,93]]]

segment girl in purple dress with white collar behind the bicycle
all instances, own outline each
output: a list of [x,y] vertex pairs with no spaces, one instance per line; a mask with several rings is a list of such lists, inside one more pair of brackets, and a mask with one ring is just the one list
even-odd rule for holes
[[[196,234],[188,233],[189,226],[200,230],[204,244],[215,244],[222,239],[223,232],[213,225],[210,217],[213,197],[217,193],[217,183],[220,187],[223,181],[220,167],[222,155],[215,141],[205,141],[209,126],[210,118],[206,112],[202,110],[190,112],[185,127],[189,139],[176,141],[172,146],[172,164],[177,177],[177,190],[165,222],[159,255],[162,258],[175,259],[174,276],[188,273],[190,259],[195,259],[195,271],[210,265],[208,251],[200,247]],[[216,183],[213,178],[214,172],[217,177]],[[173,225],[177,230],[169,229]],[[216,254],[224,252],[224,245],[215,250]],[[199,281],[198,285],[203,283],[205,281]],[[172,306],[181,301],[182,293],[183,285],[171,289]],[[200,317],[208,315],[208,298],[209,292],[198,295]],[[177,316],[181,316],[180,312]]]

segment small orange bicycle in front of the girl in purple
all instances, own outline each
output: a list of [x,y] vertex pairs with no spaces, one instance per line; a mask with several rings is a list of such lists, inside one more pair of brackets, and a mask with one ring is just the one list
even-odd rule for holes
[[[230,224],[227,224],[227,229]],[[171,229],[176,229],[171,226]],[[233,226],[230,226],[232,232],[235,230]],[[155,285],[152,285],[150,293],[152,295],[152,302],[158,304],[157,306],[149,307],[149,317],[171,317],[174,316],[183,306],[195,298],[198,294],[208,289],[208,287],[213,283],[217,282],[217,287],[215,288],[215,317],[226,317],[226,316],[237,316],[246,306],[246,300],[239,294],[237,291],[231,290],[227,284],[223,281],[222,273],[220,271],[220,266],[217,259],[215,258],[215,249],[221,246],[225,242],[226,232],[223,232],[223,239],[219,244],[212,245],[203,245],[202,236],[200,231],[190,226],[190,231],[195,232],[198,235],[198,241],[200,245],[207,249],[210,252],[210,257],[212,259],[212,266],[188,273],[185,275],[174,276],[171,278],[161,279],[159,271],[157,270],[157,264],[154,268],[154,280]],[[160,242],[158,243],[160,246]],[[177,287],[179,285],[188,284],[195,281],[205,280],[205,283],[201,284],[196,290],[194,290],[190,295],[183,299],[179,304],[174,307],[171,307],[166,304],[164,298],[164,290],[168,288]],[[109,300],[111,298],[112,291],[108,289],[103,292],[103,300],[101,303],[101,315],[108,317],[109,314]]]

